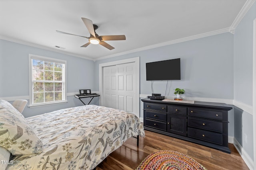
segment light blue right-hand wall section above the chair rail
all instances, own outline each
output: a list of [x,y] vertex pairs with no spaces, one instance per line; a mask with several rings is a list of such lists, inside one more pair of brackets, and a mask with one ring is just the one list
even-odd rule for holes
[[250,106],[252,106],[252,39],[254,19],[256,19],[256,3],[253,4],[242,21],[240,21],[234,34],[234,100]]

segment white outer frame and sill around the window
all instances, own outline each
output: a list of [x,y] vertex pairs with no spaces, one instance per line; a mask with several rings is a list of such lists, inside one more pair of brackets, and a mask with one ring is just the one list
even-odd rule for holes
[[[55,105],[55,104],[62,104],[66,103],[67,101],[67,61],[65,60],[60,60],[60,59],[54,59],[50,57],[44,57],[44,56],[39,56],[39,55],[33,55],[29,54],[29,107],[40,107],[40,106],[50,106],[50,105]],[[57,101],[57,102],[47,102],[47,103],[40,103],[40,104],[33,104],[32,99],[33,99],[33,93],[32,93],[32,87],[33,87],[33,82],[32,82],[32,59],[36,60],[41,60],[41,61],[48,61],[48,62],[53,62],[53,63],[60,63],[60,64],[65,64],[64,66],[64,90],[62,91],[64,94],[64,100],[62,101]]]

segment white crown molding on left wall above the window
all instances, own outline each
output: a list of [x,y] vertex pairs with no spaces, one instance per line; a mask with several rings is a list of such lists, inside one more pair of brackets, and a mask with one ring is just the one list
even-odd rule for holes
[[90,57],[85,57],[85,56],[77,55],[77,54],[74,54],[74,53],[68,53],[66,51],[53,49],[53,48],[50,48],[50,47],[45,47],[43,45],[38,45],[38,44],[30,43],[28,41],[22,41],[20,39],[14,39],[14,38],[6,37],[6,36],[3,36],[3,35],[0,35],[0,39],[6,40],[6,41],[11,41],[11,42],[14,42],[14,43],[23,44],[23,45],[28,45],[28,46],[31,46],[31,47],[36,47],[36,48],[40,48],[40,49],[44,49],[44,50],[49,50],[49,51],[53,51],[53,52],[56,52],[56,53],[62,53],[62,54],[65,54],[65,55],[70,55],[70,56],[74,56],[74,57],[88,59],[88,60],[92,60],[92,61],[95,60],[95,59],[92,59]]

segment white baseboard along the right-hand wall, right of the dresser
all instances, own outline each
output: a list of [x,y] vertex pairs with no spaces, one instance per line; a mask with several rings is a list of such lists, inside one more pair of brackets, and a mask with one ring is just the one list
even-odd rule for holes
[[243,149],[243,147],[240,145],[240,143],[238,143],[236,138],[234,138],[234,146],[236,147],[236,150],[241,155],[241,157],[243,158],[243,160],[246,163],[246,165],[248,166],[248,168],[250,170],[254,170],[254,161],[252,160],[252,158],[250,158],[250,156]]

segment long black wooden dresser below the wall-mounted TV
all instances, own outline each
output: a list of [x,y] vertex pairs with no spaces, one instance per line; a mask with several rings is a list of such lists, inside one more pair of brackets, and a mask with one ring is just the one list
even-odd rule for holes
[[228,148],[227,104],[163,102],[149,98],[144,102],[144,129],[183,139],[230,153]]

